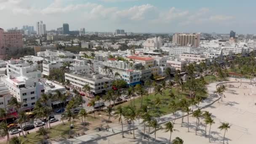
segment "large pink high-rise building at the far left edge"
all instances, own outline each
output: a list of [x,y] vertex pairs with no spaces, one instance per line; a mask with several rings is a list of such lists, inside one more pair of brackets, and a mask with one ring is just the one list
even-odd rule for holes
[[0,59],[4,59],[8,53],[13,53],[23,48],[22,34],[20,32],[4,32],[0,28]]

